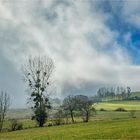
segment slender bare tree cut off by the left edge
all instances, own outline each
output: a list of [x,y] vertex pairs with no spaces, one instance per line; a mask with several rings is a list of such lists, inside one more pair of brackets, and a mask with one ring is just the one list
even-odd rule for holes
[[6,116],[6,113],[10,106],[10,97],[3,90],[0,93],[0,131],[3,127],[3,122]]

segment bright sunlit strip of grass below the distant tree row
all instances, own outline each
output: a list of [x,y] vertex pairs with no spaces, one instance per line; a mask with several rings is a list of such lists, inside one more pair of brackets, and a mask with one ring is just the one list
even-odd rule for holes
[[104,108],[106,110],[115,110],[122,107],[126,110],[140,110],[140,101],[109,101],[93,105],[97,110]]

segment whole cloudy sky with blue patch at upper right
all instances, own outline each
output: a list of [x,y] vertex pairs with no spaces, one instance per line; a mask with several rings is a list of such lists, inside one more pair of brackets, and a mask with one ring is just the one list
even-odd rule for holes
[[0,0],[0,90],[12,107],[27,106],[21,65],[44,55],[55,64],[53,97],[139,91],[139,0]]

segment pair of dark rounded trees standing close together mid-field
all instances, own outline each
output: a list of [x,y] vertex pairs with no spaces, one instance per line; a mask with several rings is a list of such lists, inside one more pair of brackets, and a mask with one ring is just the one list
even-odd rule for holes
[[61,108],[66,115],[70,115],[74,123],[74,114],[79,112],[84,122],[88,122],[93,108],[94,101],[85,95],[68,96],[63,100]]

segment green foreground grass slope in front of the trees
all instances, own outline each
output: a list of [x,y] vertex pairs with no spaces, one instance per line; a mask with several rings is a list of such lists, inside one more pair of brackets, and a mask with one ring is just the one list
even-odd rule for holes
[[1,140],[139,139],[140,118],[92,121],[1,133]]

